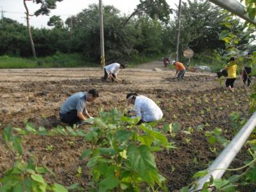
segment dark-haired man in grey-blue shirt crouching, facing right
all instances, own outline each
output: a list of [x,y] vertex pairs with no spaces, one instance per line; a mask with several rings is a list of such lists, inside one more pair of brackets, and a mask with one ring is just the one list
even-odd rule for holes
[[[61,121],[73,126],[73,124],[85,121],[86,117],[93,118],[87,112],[86,102],[93,102],[98,97],[99,93],[96,89],[72,94],[72,96],[61,105],[61,110],[59,111]],[[84,117],[84,115],[86,115],[86,117]]]

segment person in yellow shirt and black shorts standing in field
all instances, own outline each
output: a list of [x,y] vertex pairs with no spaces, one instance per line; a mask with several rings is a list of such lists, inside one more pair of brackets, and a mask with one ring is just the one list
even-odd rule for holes
[[230,57],[229,64],[225,66],[223,70],[227,70],[227,80],[226,80],[226,87],[229,91],[234,92],[234,82],[236,80],[236,70],[237,64],[235,61],[235,57]]

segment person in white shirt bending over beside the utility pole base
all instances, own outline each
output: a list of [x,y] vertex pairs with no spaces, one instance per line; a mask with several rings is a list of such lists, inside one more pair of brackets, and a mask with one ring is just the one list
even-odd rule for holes
[[104,77],[102,81],[106,81],[108,77],[111,77],[112,82],[117,82],[117,73],[120,69],[124,69],[125,64],[112,63],[104,67]]

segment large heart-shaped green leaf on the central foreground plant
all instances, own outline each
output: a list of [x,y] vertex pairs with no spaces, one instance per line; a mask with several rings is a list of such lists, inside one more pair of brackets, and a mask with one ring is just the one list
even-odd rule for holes
[[151,173],[157,174],[154,155],[146,145],[130,145],[127,149],[128,163],[144,181],[152,184]]

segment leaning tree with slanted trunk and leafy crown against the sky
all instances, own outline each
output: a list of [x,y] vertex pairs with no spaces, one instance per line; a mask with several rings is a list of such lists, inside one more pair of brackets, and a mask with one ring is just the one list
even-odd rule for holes
[[143,13],[146,13],[153,19],[158,18],[167,23],[170,20],[172,10],[165,0],[140,0],[140,4],[137,5],[137,8],[133,13],[124,20],[123,26],[125,26],[135,15],[142,15]]

